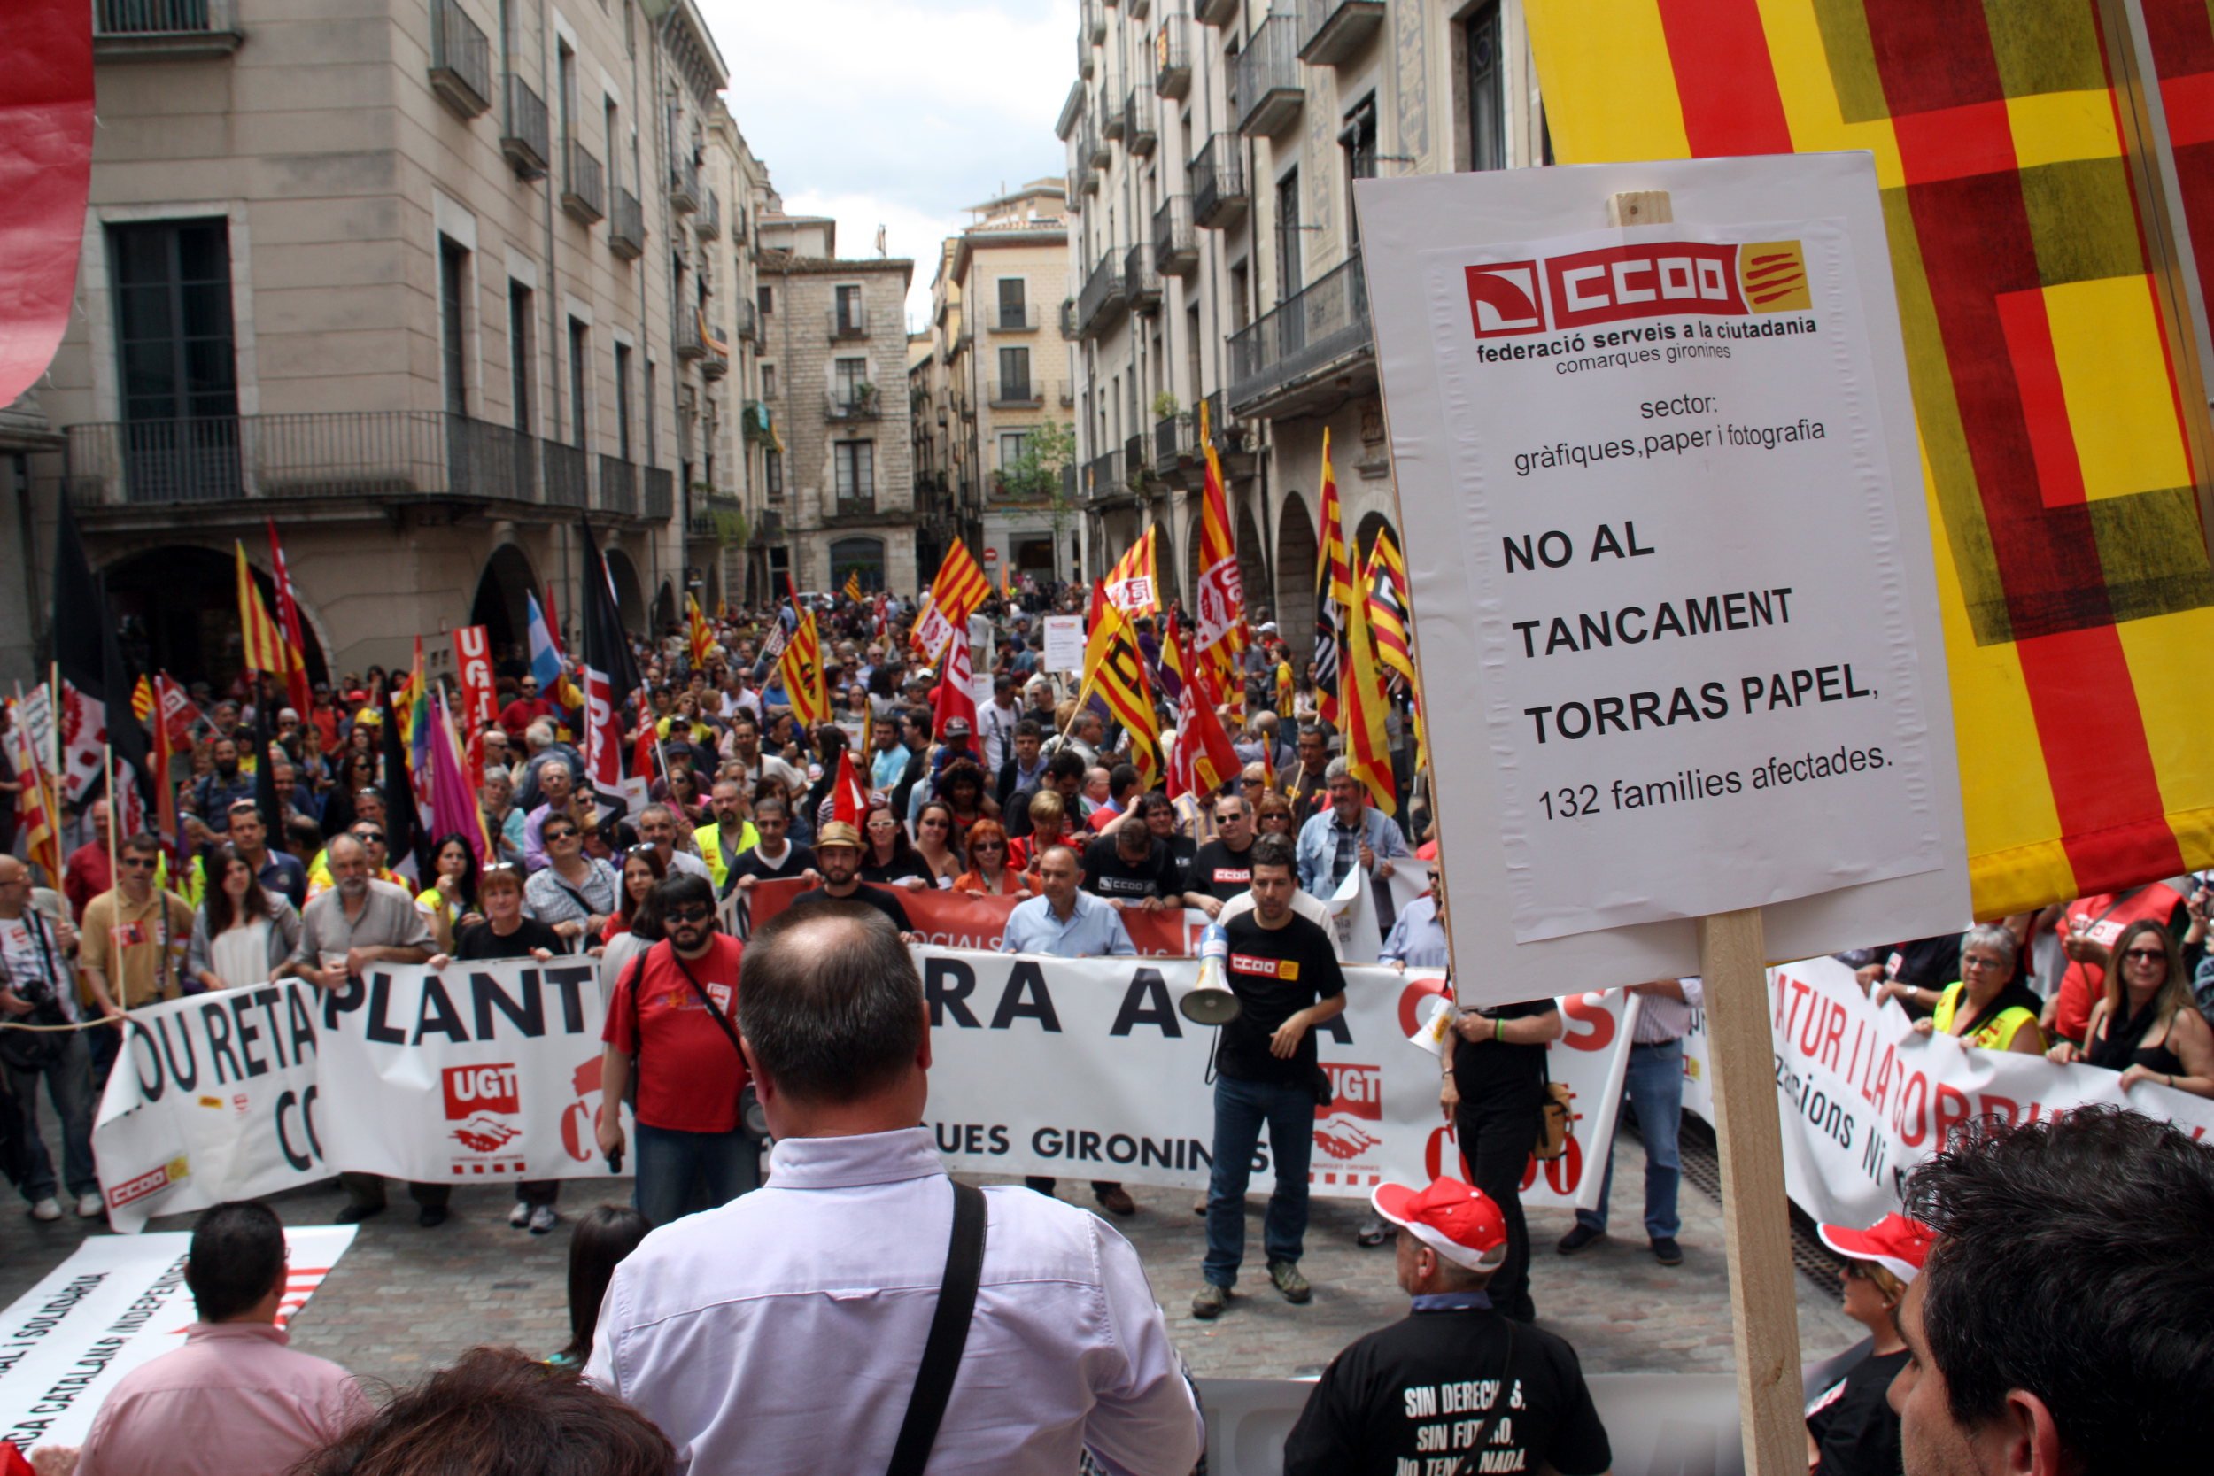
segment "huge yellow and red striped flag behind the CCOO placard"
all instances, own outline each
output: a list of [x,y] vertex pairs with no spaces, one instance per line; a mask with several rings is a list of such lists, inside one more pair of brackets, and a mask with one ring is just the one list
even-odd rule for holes
[[[2214,73],[2205,7],[2187,24]],[[2092,4],[1525,0],[1563,162],[1866,148],[1891,221],[1979,918],[2214,861],[2192,328]],[[2163,69],[2163,84],[2170,69]],[[2165,86],[2163,86],[2165,91]],[[2190,91],[2214,97],[2214,91]],[[2194,106],[2179,144],[2214,137]],[[2170,210],[2174,215],[2174,210]]]

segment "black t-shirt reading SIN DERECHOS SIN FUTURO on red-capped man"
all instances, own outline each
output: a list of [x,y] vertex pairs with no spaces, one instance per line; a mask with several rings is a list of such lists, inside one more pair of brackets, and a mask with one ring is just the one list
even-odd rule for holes
[[1599,1476],[1612,1463],[1576,1350],[1488,1306],[1415,1312],[1357,1339],[1284,1441],[1284,1476]]

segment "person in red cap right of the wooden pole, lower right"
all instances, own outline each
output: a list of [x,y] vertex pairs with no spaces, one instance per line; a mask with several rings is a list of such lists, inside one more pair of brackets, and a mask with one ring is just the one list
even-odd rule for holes
[[1884,1215],[1866,1230],[1815,1226],[1822,1244],[1846,1257],[1838,1281],[1844,1314],[1869,1330],[1866,1352],[1820,1381],[1807,1401],[1809,1476],[1897,1476],[1900,1416],[1886,1399],[1906,1365],[1897,1308],[1906,1283],[1922,1275],[1931,1235],[1904,1215]]

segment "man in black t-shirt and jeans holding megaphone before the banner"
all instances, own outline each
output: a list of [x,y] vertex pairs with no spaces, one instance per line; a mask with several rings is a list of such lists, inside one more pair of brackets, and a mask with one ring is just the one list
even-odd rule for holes
[[[1269,1281],[1286,1301],[1313,1295],[1300,1275],[1306,1239],[1306,1164],[1315,1148],[1317,1082],[1326,1082],[1315,1027],[1346,1007],[1346,976],[1331,936],[1291,907],[1297,854],[1284,836],[1253,841],[1253,909],[1222,925],[1222,978],[1238,1016],[1215,1047],[1215,1151],[1207,1184],[1207,1283],[1193,1317],[1220,1317],[1244,1259],[1244,1193],[1253,1146],[1269,1126],[1275,1191],[1262,1219]],[[1328,1087],[1320,1087],[1326,1098]]]

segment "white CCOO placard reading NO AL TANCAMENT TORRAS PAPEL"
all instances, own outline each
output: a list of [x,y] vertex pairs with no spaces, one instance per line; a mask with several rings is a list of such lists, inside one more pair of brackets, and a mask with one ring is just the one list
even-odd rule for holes
[[[1592,230],[1627,190],[1680,224]],[[1426,684],[1463,976],[1694,974],[1689,918],[1742,907],[1793,954],[1964,916],[1869,159],[1357,193],[1421,659],[1470,677]]]

